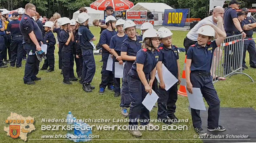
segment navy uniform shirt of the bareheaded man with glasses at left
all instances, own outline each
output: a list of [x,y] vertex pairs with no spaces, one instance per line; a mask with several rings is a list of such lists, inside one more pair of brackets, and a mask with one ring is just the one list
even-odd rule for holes
[[32,17],[28,16],[27,14],[22,15],[21,21],[19,23],[19,30],[21,31],[24,40],[29,40],[30,37],[28,34],[33,31],[36,35],[37,41],[43,41],[43,35],[40,28],[38,27],[38,24],[33,20]]

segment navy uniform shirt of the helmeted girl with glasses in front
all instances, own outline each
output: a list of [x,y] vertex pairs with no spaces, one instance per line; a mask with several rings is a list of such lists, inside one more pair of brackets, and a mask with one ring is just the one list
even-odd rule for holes
[[156,67],[157,62],[159,61],[159,50],[154,50],[154,52],[150,51],[147,48],[141,48],[136,55],[136,60],[131,67],[130,76],[138,77],[137,74],[137,65],[143,65],[143,72],[147,77],[150,72]]

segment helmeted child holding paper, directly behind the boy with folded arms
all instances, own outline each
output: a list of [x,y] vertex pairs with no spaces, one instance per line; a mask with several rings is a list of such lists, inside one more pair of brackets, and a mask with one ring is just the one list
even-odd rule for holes
[[[123,24],[126,21],[123,19],[119,19],[116,21],[116,28],[118,33],[111,38],[109,48],[111,48],[111,53],[113,53],[113,75],[115,75],[115,62],[119,62],[120,65],[123,65],[123,60],[121,58],[121,45],[123,40],[125,40],[128,36],[123,31]],[[119,97],[121,93],[120,89],[120,78],[114,78],[114,97]]]

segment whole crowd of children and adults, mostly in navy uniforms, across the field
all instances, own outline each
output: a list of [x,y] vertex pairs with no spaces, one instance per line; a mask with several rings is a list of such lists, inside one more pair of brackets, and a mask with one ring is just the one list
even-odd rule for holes
[[[242,33],[244,38],[251,38],[252,29],[256,27],[255,22],[245,16],[248,9],[243,8],[241,12],[236,12],[239,4],[236,0],[231,0],[225,11],[222,7],[215,7],[213,15],[197,23],[184,39],[187,55],[185,66],[187,91],[192,93],[193,88],[201,89],[209,105],[207,127],[209,131],[225,131],[225,127],[218,124],[220,100],[212,83],[213,78],[225,79],[211,73],[211,69],[214,68],[212,61],[216,55],[219,55],[217,53],[222,53],[218,45],[230,35]],[[93,25],[101,28],[100,37],[95,37],[89,29],[89,15],[85,8],[79,10],[77,19],[70,20],[55,13],[45,23],[40,21],[41,17],[36,12],[36,6],[30,3],[26,4],[23,15],[14,12],[10,22],[7,22],[8,14],[1,10],[0,67],[7,67],[3,59],[6,59],[5,53],[8,48],[6,37],[9,36],[11,38],[10,66],[14,67],[16,64],[17,68],[21,67],[25,50],[27,60],[24,83],[36,84],[35,81],[41,80],[37,77],[40,61],[44,59],[41,70],[47,70],[47,72],[55,70],[54,51],[57,44],[63,83],[70,85],[71,81],[78,81],[79,78],[82,89],[85,92],[92,92],[95,87],[91,83],[97,72],[92,42],[99,38],[100,42],[97,46],[102,47],[103,61],[99,93],[104,94],[107,87],[114,92],[114,97],[121,95],[121,115],[129,117],[129,125],[138,125],[137,120],[140,119],[140,125],[150,127],[152,123],[148,122],[149,111],[142,105],[142,101],[147,93],[151,95],[154,90],[159,96],[157,118],[168,125],[177,123],[178,118],[174,113],[178,85],[181,80],[179,50],[172,43],[173,33],[164,27],[155,30],[151,23],[146,22],[141,25],[141,35],[137,35],[133,21],[117,20],[111,6],[106,7],[105,11],[108,15],[105,20],[93,21]],[[57,33],[57,39],[53,32]],[[47,51],[42,51],[42,44],[47,45]],[[244,47],[247,47],[244,50],[250,53],[250,66],[256,68],[254,40],[244,42]],[[46,55],[45,52],[47,52]],[[113,57],[112,71],[106,69],[109,55]],[[74,75],[74,61],[78,78]],[[114,77],[115,62],[124,64],[122,80]],[[165,90],[162,66],[165,66],[178,79],[178,82],[168,90]],[[246,68],[244,61],[243,67]],[[159,86],[155,79],[156,70]],[[195,131],[205,135],[206,132],[201,127],[200,111],[191,108],[191,114]],[[131,129],[130,133],[135,137],[142,136],[138,129]]]

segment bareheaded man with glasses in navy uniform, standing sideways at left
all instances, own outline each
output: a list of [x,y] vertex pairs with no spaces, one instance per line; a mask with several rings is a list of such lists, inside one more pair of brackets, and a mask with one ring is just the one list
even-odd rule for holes
[[41,80],[38,74],[39,57],[38,52],[42,52],[41,44],[43,44],[43,36],[37,23],[33,20],[36,14],[36,6],[28,3],[25,6],[25,14],[22,15],[19,23],[19,30],[23,36],[23,47],[26,50],[28,58],[26,60],[24,83],[31,85],[35,81]]

